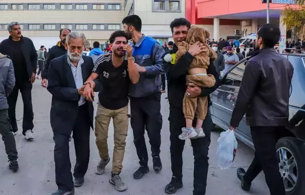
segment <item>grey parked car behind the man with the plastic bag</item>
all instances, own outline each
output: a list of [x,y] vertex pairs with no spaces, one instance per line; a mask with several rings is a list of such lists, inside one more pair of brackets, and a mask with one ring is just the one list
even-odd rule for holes
[[[289,124],[287,135],[280,139],[276,149],[279,167],[287,195],[305,194],[305,54],[282,54],[294,67],[290,87]],[[221,86],[211,94],[211,116],[215,124],[228,129],[236,103],[241,79],[249,57],[232,67],[221,81]],[[236,137],[254,148],[250,127],[243,116],[235,131]]]

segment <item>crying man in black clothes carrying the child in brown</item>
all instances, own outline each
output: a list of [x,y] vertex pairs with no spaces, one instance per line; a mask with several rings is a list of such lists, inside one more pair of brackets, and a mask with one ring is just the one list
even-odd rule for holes
[[[190,46],[189,51],[175,62],[177,44],[185,41],[191,23],[185,18],[178,18],[171,22],[170,27],[173,33],[174,46],[172,50],[167,50],[164,54],[164,66],[167,68],[168,80],[168,101],[169,101],[169,128],[170,128],[170,156],[172,179],[166,186],[165,192],[173,194],[182,187],[182,152],[185,140],[178,138],[181,128],[186,125],[186,120],[182,112],[182,101],[185,92],[189,96],[208,96],[219,85],[219,74],[212,61],[207,69],[207,74],[212,74],[216,79],[216,84],[212,88],[199,88],[198,86],[187,86],[186,75],[193,59],[193,56],[206,51],[202,44]],[[172,60],[166,60],[172,57]],[[166,61],[168,62],[166,62]],[[196,120],[194,120],[196,124]],[[194,154],[194,190],[193,195],[204,195],[206,188],[206,178],[208,172],[208,147],[210,144],[210,133],[212,119],[209,109],[202,125],[205,133],[204,138],[191,139]]]

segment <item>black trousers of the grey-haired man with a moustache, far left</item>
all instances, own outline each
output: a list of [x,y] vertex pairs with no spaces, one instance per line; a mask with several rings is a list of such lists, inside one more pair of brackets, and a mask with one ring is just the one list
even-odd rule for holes
[[22,134],[25,135],[27,130],[34,128],[34,113],[32,106],[32,84],[29,81],[19,82],[16,80],[16,85],[13,91],[8,97],[9,104],[9,118],[13,128],[13,132],[18,131],[16,121],[16,103],[18,98],[18,92],[20,90],[23,101],[23,120],[22,120]]

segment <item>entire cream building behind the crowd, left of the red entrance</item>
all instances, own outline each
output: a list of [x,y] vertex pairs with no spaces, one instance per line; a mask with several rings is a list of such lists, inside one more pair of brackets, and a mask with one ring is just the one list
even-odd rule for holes
[[174,18],[185,17],[185,0],[3,0],[0,42],[9,36],[7,24],[18,21],[23,36],[31,38],[36,49],[54,45],[64,27],[82,31],[87,46],[99,41],[103,48],[113,31],[123,29],[123,18],[131,14],[141,17],[145,35],[169,41],[169,24]]

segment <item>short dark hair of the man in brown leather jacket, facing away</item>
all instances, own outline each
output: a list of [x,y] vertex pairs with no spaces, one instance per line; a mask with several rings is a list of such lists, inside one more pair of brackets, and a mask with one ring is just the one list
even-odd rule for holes
[[277,25],[264,24],[257,31],[257,37],[262,38],[264,47],[273,48],[280,40],[281,31]]

